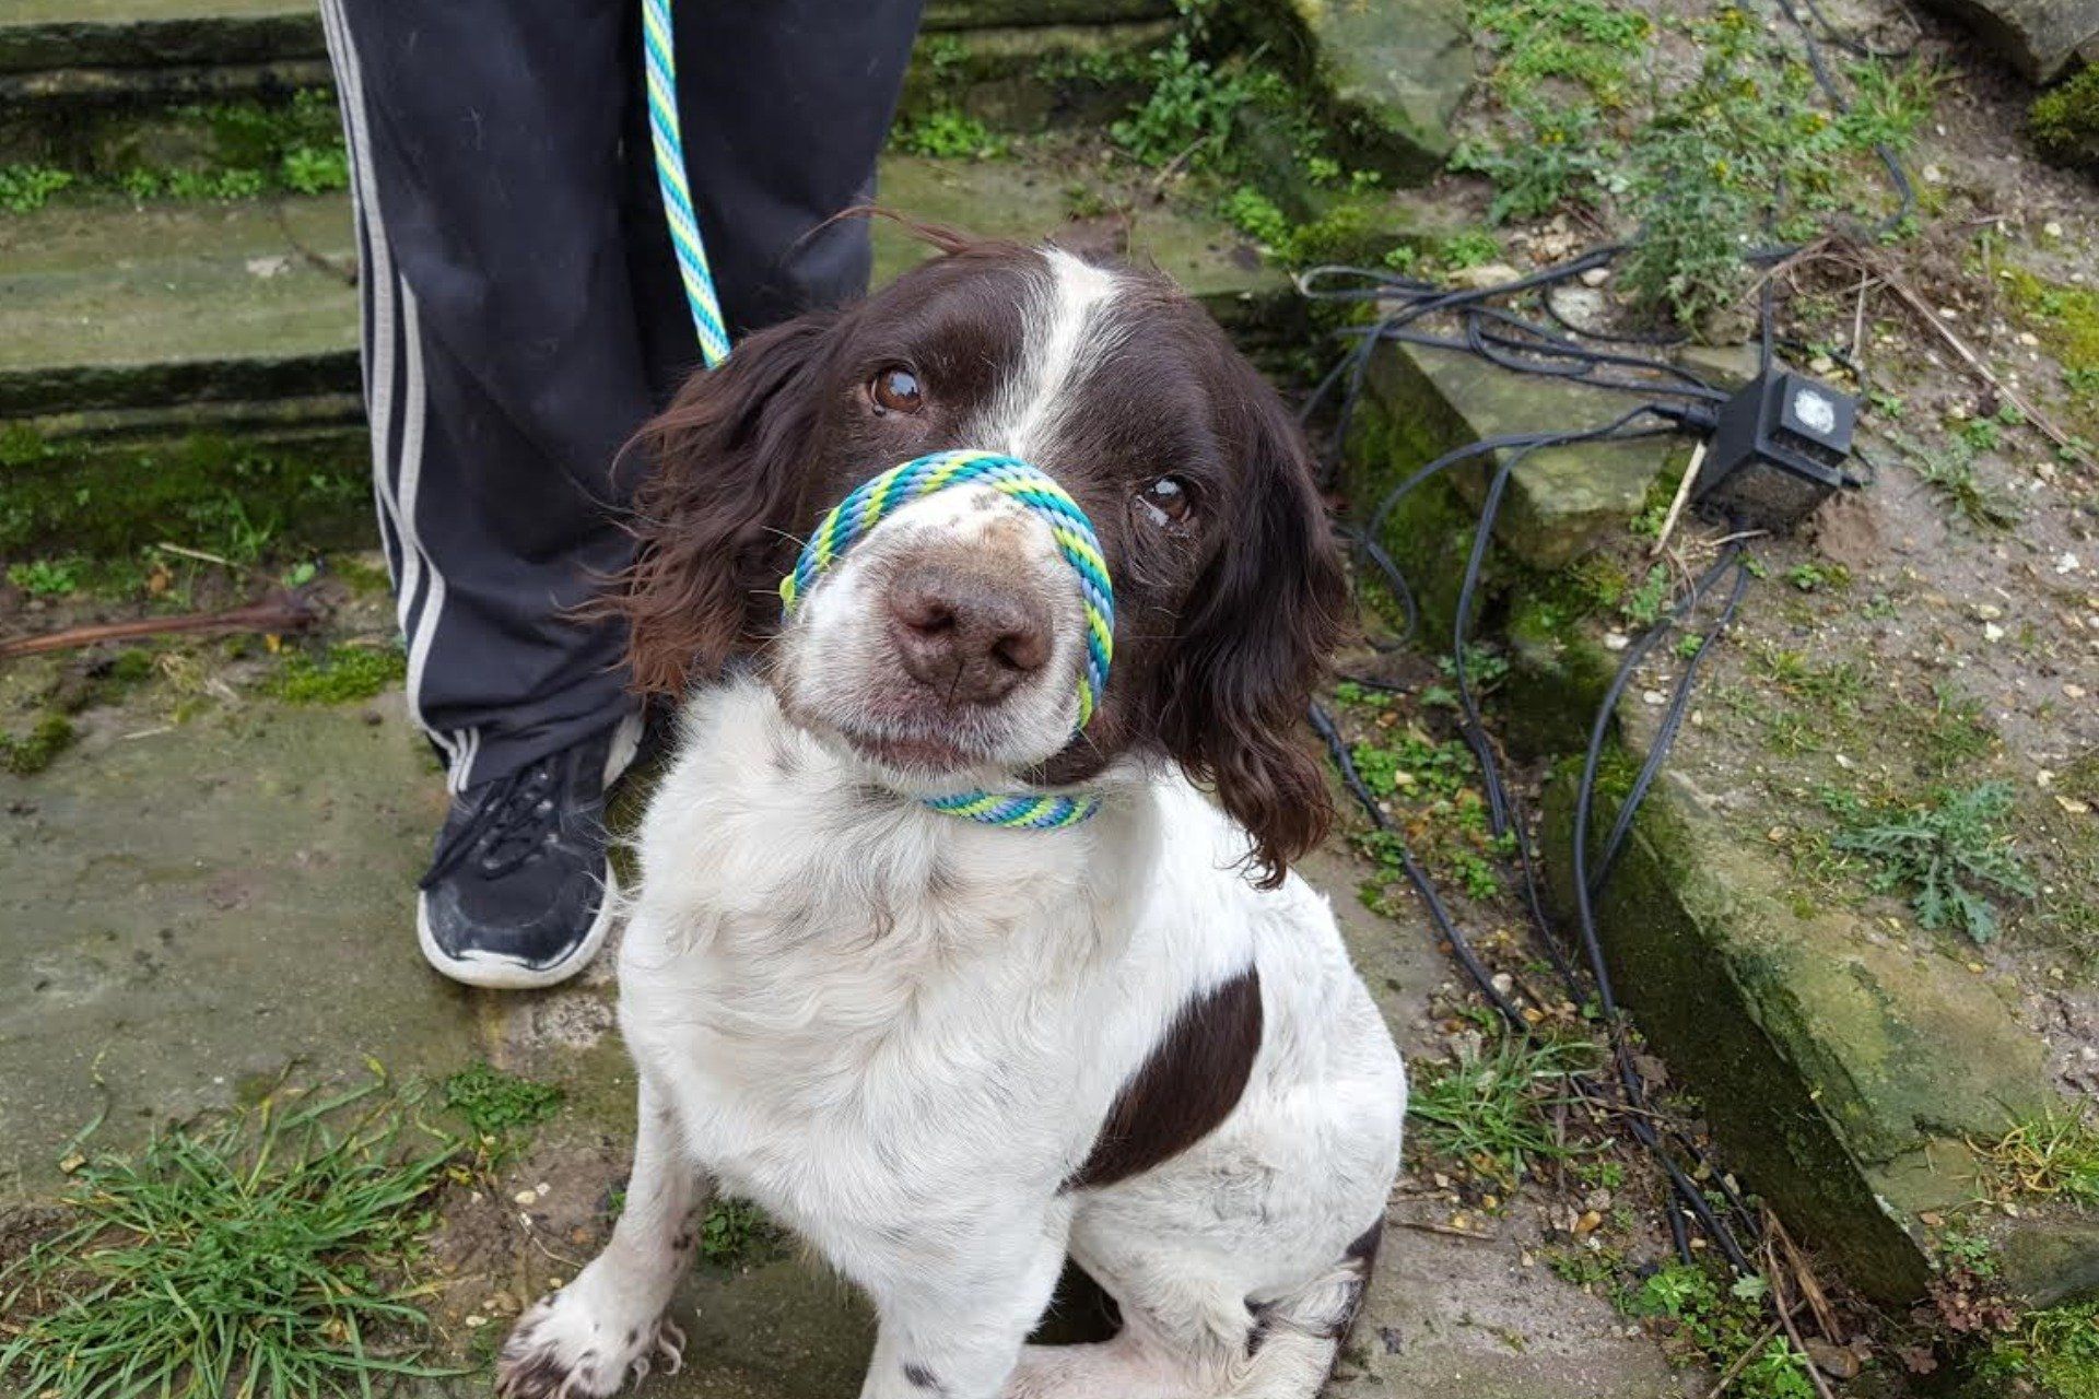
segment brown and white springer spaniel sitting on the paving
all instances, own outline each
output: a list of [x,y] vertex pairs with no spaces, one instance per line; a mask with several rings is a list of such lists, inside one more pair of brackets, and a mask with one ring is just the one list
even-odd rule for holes
[[[607,1250],[504,1347],[504,1395],[609,1395],[712,1185],[867,1290],[867,1399],[1308,1399],[1400,1162],[1400,1055],[1327,902],[1301,715],[1343,581],[1299,432],[1165,277],[963,243],[741,344],[649,430],[617,608],[684,694],[640,826],[619,1017],[640,1141]],[[957,487],[886,516],[787,621],[821,514],[940,449],[1091,518],[1115,667],[1050,526]],[[724,667],[739,657],[747,669]],[[1083,791],[1008,831],[921,803]],[[1031,1347],[1066,1258],[1121,1305]]]

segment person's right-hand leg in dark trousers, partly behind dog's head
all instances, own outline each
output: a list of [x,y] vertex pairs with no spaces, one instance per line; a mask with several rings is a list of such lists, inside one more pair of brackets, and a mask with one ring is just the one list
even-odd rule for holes
[[[867,294],[867,222],[827,220],[873,199],[919,4],[674,0],[686,170],[733,338]],[[699,365],[699,348],[646,130],[636,84],[628,109],[632,260],[651,373],[667,392]]]

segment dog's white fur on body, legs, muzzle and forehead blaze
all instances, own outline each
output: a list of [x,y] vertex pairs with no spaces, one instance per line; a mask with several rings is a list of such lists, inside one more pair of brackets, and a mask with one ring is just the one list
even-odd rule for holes
[[[1115,338],[1112,275],[1064,254],[1047,268],[987,445],[1039,451]],[[1041,673],[984,715],[942,719],[976,755],[961,772],[854,747],[924,736],[882,698],[894,657],[877,621],[884,571],[917,550],[995,552],[1054,604]],[[1364,1282],[1343,1254],[1383,1219],[1406,1110],[1327,902],[1297,877],[1253,887],[1247,833],[1136,759],[1089,782],[1102,810],[1066,831],[917,801],[1012,784],[1064,745],[1083,663],[1073,594],[1041,520],[949,491],[817,583],[766,680],[688,701],[619,954],[642,1122],[628,1208],[605,1254],[518,1323],[504,1393],[605,1395],[676,1355],[657,1317],[701,1177],[873,1298],[863,1399],[1318,1391]],[[1062,1189],[1180,1011],[1249,967],[1264,1036],[1226,1120],[1148,1172]],[[1125,1330],[1024,1347],[1066,1254]]]

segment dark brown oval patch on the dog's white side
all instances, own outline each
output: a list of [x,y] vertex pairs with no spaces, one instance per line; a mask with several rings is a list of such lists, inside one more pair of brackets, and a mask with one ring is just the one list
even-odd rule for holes
[[1127,1181],[1209,1137],[1238,1105],[1259,1049],[1261,973],[1247,967],[1182,1007],[1064,1189]]

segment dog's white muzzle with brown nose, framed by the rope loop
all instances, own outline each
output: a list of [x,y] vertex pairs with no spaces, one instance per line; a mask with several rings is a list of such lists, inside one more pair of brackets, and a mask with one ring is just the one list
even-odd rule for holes
[[970,485],[907,503],[819,577],[772,684],[819,736],[951,789],[1050,761],[1083,667],[1085,610],[1047,522]]

